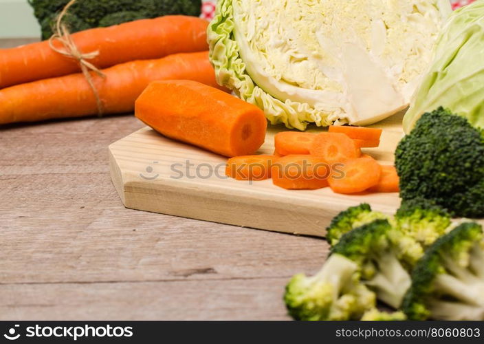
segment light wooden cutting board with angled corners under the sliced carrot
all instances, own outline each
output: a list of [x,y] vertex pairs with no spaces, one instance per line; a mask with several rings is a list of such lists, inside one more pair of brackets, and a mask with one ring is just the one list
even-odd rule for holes
[[[402,116],[375,125],[384,129],[380,147],[364,151],[383,164],[393,164],[393,152],[403,137]],[[282,130],[287,129],[270,127],[259,153],[272,154],[274,135]],[[374,210],[388,214],[399,206],[397,193],[338,195],[329,188],[289,191],[271,180],[225,178],[226,158],[175,142],[148,127],[111,144],[109,160],[111,179],[127,208],[223,224],[324,236],[331,219],[349,206],[368,202]]]

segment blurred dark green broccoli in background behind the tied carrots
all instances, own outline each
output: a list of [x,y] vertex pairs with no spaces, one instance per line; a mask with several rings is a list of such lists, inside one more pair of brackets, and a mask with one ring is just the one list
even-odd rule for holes
[[[28,0],[42,28],[42,39],[52,36],[56,16],[69,0]],[[201,0],[79,0],[65,17],[71,32],[106,27],[169,14],[200,15]]]

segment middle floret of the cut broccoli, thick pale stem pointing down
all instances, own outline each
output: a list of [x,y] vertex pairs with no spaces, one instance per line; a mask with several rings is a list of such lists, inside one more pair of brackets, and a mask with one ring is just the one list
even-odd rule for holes
[[[388,220],[377,219],[343,235],[331,254],[355,261],[360,267],[362,283],[375,290],[378,299],[399,308],[411,283],[404,262],[406,252],[396,244],[403,242],[401,238],[406,237]],[[406,238],[406,241],[412,239]]]

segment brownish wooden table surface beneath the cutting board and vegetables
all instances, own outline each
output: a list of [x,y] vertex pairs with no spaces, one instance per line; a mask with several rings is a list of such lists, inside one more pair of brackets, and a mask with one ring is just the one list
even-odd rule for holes
[[107,146],[141,127],[0,127],[0,320],[288,319],[285,283],[326,242],[124,208]]

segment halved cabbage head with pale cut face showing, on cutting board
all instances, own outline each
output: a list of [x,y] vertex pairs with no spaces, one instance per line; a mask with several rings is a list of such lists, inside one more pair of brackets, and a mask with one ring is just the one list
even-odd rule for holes
[[448,0],[219,0],[217,80],[272,124],[368,125],[408,106]]

